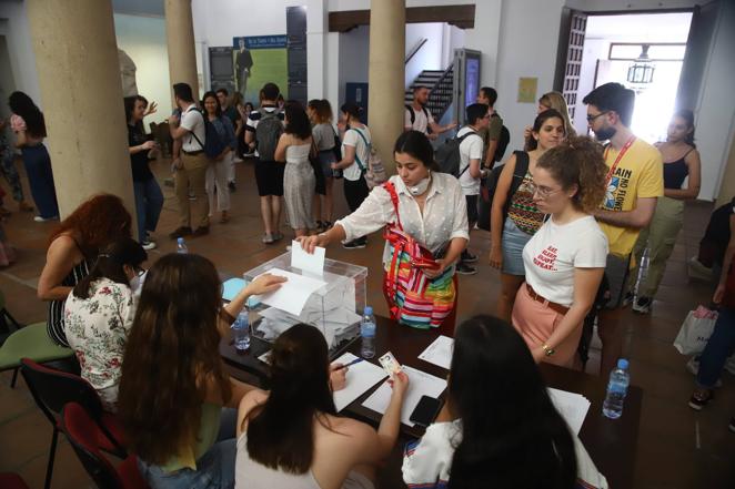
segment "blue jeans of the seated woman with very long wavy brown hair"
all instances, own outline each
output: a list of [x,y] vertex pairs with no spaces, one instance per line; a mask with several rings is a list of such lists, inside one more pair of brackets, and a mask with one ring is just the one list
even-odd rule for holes
[[197,460],[197,470],[184,468],[165,472],[138,459],[138,470],[151,489],[232,489],[238,451],[235,425],[238,410],[223,408],[217,442]]

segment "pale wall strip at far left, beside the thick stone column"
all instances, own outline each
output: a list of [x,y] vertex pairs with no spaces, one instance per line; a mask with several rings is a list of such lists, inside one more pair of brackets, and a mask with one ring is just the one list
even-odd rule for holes
[[26,92],[43,109],[26,2],[0,2],[0,34],[8,42],[16,90]]

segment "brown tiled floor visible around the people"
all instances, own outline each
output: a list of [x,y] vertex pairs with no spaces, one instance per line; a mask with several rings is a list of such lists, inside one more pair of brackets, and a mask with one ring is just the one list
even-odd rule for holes
[[[168,164],[161,162],[155,166],[162,181],[167,176]],[[260,242],[262,226],[252,163],[238,165],[238,191],[232,194],[232,220],[223,225],[213,224],[209,236],[188,242],[191,252],[209,257],[218,268],[232,274],[240,274],[283,253],[286,244],[284,241],[266,246]],[[160,247],[150,252],[151,261],[174,248],[165,233],[175,227],[175,201],[170,187],[164,187],[164,194],[167,201],[158,233]],[[336,192],[336,201],[339,210],[344,213],[341,190]],[[13,208],[14,204],[9,198],[6,202]],[[685,266],[685,258],[696,253],[709,210],[707,204],[687,207],[685,226],[668,262],[653,314],[637,316],[625,313],[633,383],[644,389],[636,488],[735,487],[735,435],[727,431],[727,421],[735,416],[735,379],[725,374],[717,399],[703,412],[692,411],[686,401],[693,378],[684,368],[686,359],[672,346],[687,310],[697,304],[706,304],[712,291],[711,285],[689,283]],[[0,271],[0,288],[6,294],[8,308],[23,324],[43,320],[46,306],[36,297],[36,284],[44,263],[47,236],[53,224],[37,224],[29,214],[13,213],[4,226],[11,242],[20,251],[18,263]],[[486,265],[489,245],[487,233],[473,232],[471,248],[480,253],[482,259],[477,275],[460,278],[461,317],[493,313],[495,309],[500,285],[497,272]],[[371,236],[366,249],[345,251],[332,246],[329,256],[370,268],[369,300],[377,314],[385,315],[386,308],[380,293],[381,251],[382,240],[375,234]],[[597,367],[598,357],[598,352],[593,349],[587,367],[590,371]],[[33,405],[22,380],[13,390],[9,384],[10,374],[0,374],[0,471],[19,472],[30,487],[40,488],[51,427]],[[591,412],[588,416],[596,415]],[[69,444],[63,437],[60,440],[53,488],[92,487]],[[394,463],[391,467],[396,468]],[[386,479],[394,478],[389,476]]]

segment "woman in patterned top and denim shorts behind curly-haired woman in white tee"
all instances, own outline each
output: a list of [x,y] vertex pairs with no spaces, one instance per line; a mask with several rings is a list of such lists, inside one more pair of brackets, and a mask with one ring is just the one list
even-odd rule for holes
[[530,190],[538,159],[564,140],[564,118],[550,109],[536,116],[526,142],[503,166],[491,207],[490,265],[501,271],[501,295],[496,314],[511,320],[513,300],[523,283],[523,246],[544,222]]

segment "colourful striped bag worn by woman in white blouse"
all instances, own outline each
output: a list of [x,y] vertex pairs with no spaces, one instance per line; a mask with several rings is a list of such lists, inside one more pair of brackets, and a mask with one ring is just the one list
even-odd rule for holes
[[391,317],[415,328],[439,327],[454,308],[454,266],[447,267],[435,278],[429,278],[416,266],[431,266],[436,262],[429,249],[403,231],[395,186],[386,182],[383,189],[391,195],[396,221],[386,225],[383,233],[391,255],[383,275],[383,294]]

